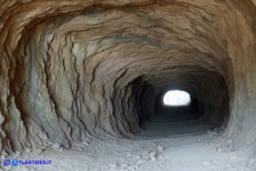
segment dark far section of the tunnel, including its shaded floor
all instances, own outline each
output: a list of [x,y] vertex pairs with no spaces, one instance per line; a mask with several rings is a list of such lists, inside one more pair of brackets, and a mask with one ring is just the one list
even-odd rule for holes
[[[189,72],[174,80],[171,76],[150,83],[144,77],[134,80],[131,96],[144,136],[197,135],[227,126],[230,99],[226,82],[218,73],[202,71],[200,76],[192,77]],[[187,104],[164,104],[163,98],[171,90],[187,92]]]

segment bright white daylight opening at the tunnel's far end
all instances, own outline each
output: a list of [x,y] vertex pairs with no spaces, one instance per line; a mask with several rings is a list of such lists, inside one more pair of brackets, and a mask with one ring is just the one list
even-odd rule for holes
[[165,105],[189,105],[191,98],[188,92],[184,91],[169,91],[163,96],[163,104]]

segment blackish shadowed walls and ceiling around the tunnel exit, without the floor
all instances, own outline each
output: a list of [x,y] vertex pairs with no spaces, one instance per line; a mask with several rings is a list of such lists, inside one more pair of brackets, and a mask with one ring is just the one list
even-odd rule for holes
[[[182,67],[179,68],[181,71],[184,69]],[[157,83],[154,83],[155,81]],[[173,122],[200,119],[202,122],[212,124],[214,128],[227,125],[229,94],[225,80],[218,73],[204,69],[200,71],[196,68],[194,72],[167,74],[163,78],[151,81],[138,79],[134,81],[133,87],[134,106],[141,126],[145,119],[150,120],[151,117],[157,116]],[[189,92],[191,103],[188,106],[165,106],[164,93],[177,89]],[[205,96],[206,94],[211,95]]]

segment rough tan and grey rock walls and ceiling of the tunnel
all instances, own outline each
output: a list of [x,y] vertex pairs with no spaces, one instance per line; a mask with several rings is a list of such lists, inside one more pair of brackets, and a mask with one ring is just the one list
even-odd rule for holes
[[1,152],[138,133],[166,88],[255,143],[255,4],[1,1]]

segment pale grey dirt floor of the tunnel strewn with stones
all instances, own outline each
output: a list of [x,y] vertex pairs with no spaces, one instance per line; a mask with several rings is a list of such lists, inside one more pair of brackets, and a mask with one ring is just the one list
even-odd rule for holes
[[[130,139],[102,138],[46,149],[24,149],[5,158],[50,160],[51,165],[2,166],[3,170],[174,170],[255,171],[256,156],[250,148],[234,150],[218,141],[222,129],[195,121],[172,123],[157,117],[146,130]],[[209,130],[211,129],[211,130]],[[229,140],[227,144],[232,144]],[[251,154],[251,155],[248,155]],[[11,165],[11,164],[10,164]]]

